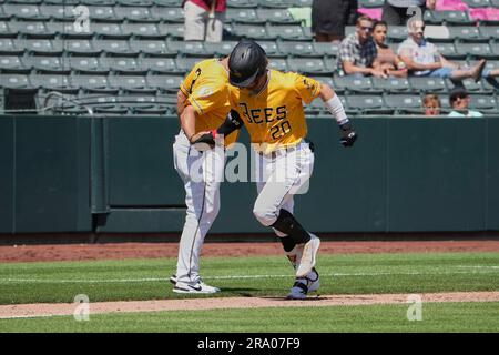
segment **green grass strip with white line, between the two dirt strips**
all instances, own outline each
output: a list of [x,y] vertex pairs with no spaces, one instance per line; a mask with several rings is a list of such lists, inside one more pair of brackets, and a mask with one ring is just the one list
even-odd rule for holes
[[[176,295],[167,278],[175,260],[6,263],[0,304],[164,300]],[[322,294],[424,293],[499,290],[499,253],[320,255]],[[284,296],[293,270],[284,256],[204,257],[205,282],[223,296]],[[288,312],[288,311],[287,311]]]

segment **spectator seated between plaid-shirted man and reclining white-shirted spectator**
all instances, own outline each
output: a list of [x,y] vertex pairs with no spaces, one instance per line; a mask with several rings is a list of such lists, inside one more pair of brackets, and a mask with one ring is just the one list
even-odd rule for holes
[[376,43],[377,57],[373,64],[389,77],[406,78],[406,63],[395,54],[394,50],[385,43],[388,26],[385,21],[374,24],[373,39]]

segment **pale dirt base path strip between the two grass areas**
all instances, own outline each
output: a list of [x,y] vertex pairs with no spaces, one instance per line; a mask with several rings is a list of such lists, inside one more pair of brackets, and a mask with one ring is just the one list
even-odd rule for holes
[[[499,292],[452,292],[420,294],[421,302],[493,302],[499,301]],[[309,297],[305,301],[288,301],[282,297],[224,297],[195,300],[128,301],[91,303],[90,315],[99,313],[157,312],[228,310],[295,306],[340,306],[407,303],[408,294],[378,295],[327,295]],[[1,318],[45,317],[72,315],[78,304],[19,304],[0,306]]]

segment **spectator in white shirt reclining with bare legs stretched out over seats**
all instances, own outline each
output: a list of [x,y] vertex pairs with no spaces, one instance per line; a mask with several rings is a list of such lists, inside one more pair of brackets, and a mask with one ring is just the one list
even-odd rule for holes
[[409,74],[416,77],[449,78],[459,81],[472,78],[479,81],[482,77],[499,74],[498,70],[483,71],[486,60],[482,59],[473,68],[461,68],[448,61],[438,52],[438,48],[425,39],[425,22],[415,20],[409,26],[409,37],[400,43],[397,54],[406,63]]

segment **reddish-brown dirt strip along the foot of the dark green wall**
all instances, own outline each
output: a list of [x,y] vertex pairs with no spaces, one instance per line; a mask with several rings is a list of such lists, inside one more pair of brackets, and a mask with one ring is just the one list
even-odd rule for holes
[[[0,263],[176,257],[176,243],[45,244],[0,246]],[[499,252],[499,241],[323,242],[320,253]],[[203,256],[282,255],[279,243],[205,243]]]

